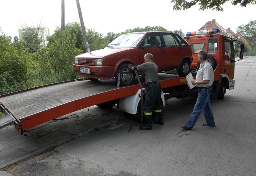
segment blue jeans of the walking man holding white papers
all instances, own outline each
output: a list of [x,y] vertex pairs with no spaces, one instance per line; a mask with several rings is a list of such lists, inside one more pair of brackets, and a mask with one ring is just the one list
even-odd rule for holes
[[192,129],[200,116],[201,112],[204,112],[204,117],[206,122],[209,125],[215,125],[213,114],[212,114],[212,108],[210,104],[210,94],[212,91],[212,87],[206,87],[206,88],[198,88],[198,98],[196,100],[196,104],[194,106],[193,112],[190,114],[190,117],[188,119],[188,122],[186,123],[186,126],[189,129]]

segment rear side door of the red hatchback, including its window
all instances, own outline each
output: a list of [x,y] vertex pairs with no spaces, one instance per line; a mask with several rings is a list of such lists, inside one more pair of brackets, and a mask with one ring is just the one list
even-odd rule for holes
[[162,34],[166,46],[166,68],[176,68],[184,56],[183,46],[174,35]]

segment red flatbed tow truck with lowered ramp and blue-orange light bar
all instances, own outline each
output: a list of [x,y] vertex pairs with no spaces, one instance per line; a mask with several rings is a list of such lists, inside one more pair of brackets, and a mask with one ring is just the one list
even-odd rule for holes
[[[226,89],[234,88],[234,41],[230,37],[215,34],[218,32],[199,32],[202,36],[193,36],[198,32],[190,32],[186,40],[193,48],[192,73],[195,76],[197,52],[206,49],[208,61],[214,68],[213,96],[215,94],[223,99]],[[243,58],[243,48],[244,44],[241,44],[240,59]],[[26,136],[32,127],[94,105],[100,108],[116,106],[141,122],[146,86],[141,83],[143,78],[136,77],[138,79],[132,85],[124,87],[116,86],[115,79],[95,82],[77,79],[0,95],[0,110],[5,114],[0,117],[0,128],[14,124],[16,130]],[[190,89],[186,78],[178,76],[175,71],[159,73],[159,82],[163,106],[168,98],[184,98],[197,92],[197,88]]]

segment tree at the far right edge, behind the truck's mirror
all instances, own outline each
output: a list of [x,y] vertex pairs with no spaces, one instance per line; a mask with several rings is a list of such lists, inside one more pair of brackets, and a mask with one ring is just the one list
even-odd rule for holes
[[252,42],[252,48],[256,49],[256,20],[250,21],[248,24],[238,26],[237,32]]

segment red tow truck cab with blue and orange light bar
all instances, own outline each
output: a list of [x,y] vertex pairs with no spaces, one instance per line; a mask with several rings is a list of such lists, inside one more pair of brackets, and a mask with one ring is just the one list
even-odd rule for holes
[[[231,37],[219,34],[219,29],[200,30],[188,32],[185,40],[192,48],[193,61],[191,69],[196,72],[200,63],[198,62],[198,52],[205,50],[207,60],[214,70],[213,93],[218,93],[218,99],[223,99],[226,89],[234,89],[235,70],[235,43]],[[243,58],[244,44],[240,44],[239,58]]]

